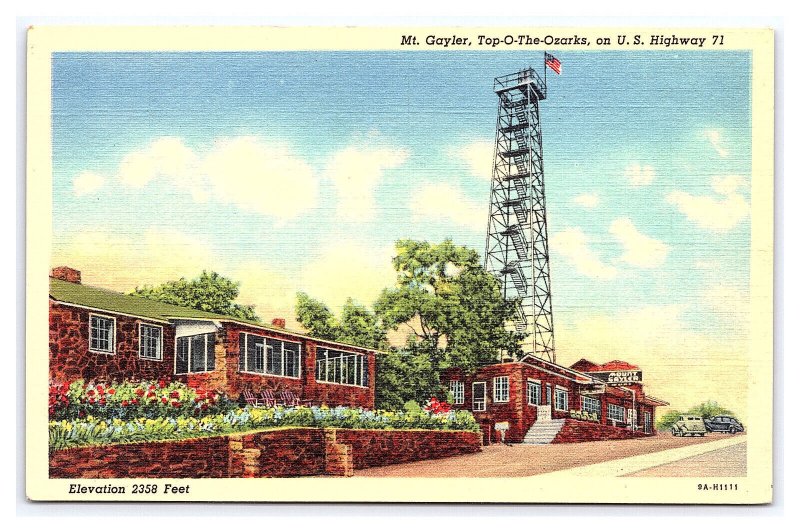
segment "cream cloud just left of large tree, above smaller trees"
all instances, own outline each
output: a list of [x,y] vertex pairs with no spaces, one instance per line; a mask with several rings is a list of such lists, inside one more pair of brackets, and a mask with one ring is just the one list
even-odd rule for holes
[[372,305],[381,290],[394,286],[394,253],[392,246],[376,249],[352,241],[331,244],[309,257],[298,284],[337,313],[348,297]]

